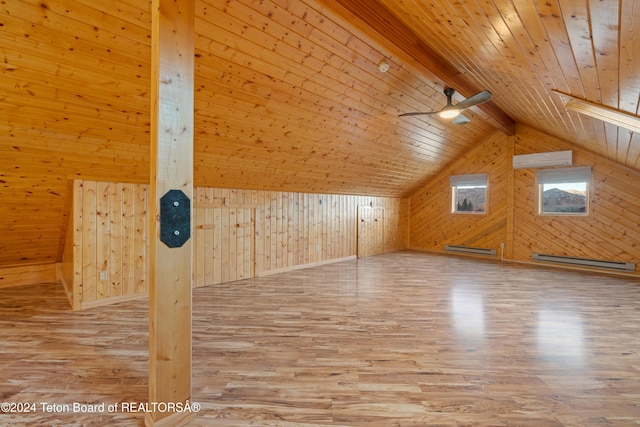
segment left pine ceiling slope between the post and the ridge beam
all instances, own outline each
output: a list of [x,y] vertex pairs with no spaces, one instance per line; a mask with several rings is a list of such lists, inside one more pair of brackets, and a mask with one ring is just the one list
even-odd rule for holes
[[314,2],[200,2],[196,32],[205,185],[406,195],[495,131],[481,110],[398,118],[443,107],[443,86]]

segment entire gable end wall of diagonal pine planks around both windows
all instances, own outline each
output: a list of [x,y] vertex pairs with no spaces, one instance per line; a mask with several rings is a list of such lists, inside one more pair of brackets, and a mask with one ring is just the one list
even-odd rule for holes
[[[573,166],[593,167],[586,218],[537,215],[535,169],[513,170],[511,156],[573,150]],[[451,213],[449,176],[487,173],[487,215]],[[409,247],[443,252],[445,244],[494,248],[505,259],[531,262],[532,253],[633,262],[640,275],[640,172],[576,145],[518,125],[515,137],[496,134],[445,168],[410,198]]]

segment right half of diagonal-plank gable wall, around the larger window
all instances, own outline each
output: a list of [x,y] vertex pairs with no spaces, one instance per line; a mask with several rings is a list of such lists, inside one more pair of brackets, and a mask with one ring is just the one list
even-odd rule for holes
[[633,262],[640,275],[640,172],[597,154],[521,127],[516,154],[573,150],[574,166],[593,167],[590,214],[586,218],[536,215],[535,170],[515,171],[512,258],[532,252]]

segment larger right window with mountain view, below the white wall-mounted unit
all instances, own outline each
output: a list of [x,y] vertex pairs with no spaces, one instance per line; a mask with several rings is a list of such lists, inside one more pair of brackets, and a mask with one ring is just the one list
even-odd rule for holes
[[536,173],[540,215],[587,215],[591,166]]

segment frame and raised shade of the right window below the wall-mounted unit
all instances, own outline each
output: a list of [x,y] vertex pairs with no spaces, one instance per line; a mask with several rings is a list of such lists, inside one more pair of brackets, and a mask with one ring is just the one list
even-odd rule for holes
[[[553,184],[585,184],[584,212],[545,212],[544,186]],[[536,171],[536,212],[538,216],[550,217],[589,217],[593,200],[593,174],[591,166],[573,168],[542,169]]]

